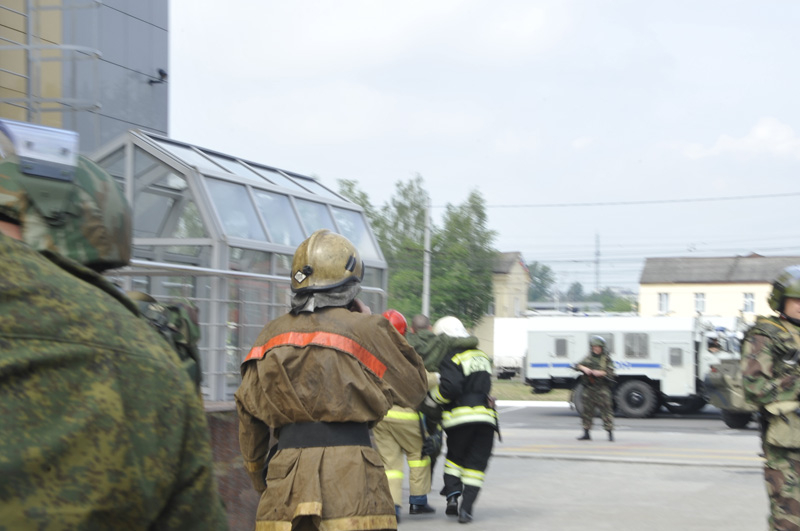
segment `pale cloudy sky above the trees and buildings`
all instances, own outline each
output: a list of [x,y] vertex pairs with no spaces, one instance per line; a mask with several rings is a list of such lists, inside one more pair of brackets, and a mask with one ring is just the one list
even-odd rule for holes
[[478,190],[566,290],[800,255],[800,3],[171,0],[170,136],[434,219]]

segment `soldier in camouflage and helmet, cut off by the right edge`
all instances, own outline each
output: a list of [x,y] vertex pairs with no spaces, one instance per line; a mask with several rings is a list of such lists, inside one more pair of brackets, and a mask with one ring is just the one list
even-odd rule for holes
[[786,268],[772,286],[770,308],[745,335],[745,398],[759,407],[770,529],[800,530],[800,266]]

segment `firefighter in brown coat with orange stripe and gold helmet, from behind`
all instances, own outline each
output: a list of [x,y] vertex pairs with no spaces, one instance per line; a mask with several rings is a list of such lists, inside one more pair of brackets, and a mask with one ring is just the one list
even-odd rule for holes
[[[242,364],[239,443],[262,492],[258,531],[397,527],[369,429],[393,404],[417,406],[426,376],[391,323],[356,300],[363,273],[346,238],[312,234],[294,255],[291,312]],[[278,444],[264,473],[270,428]]]

